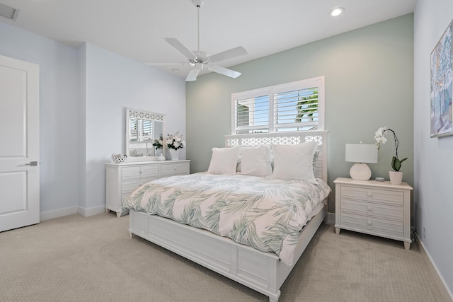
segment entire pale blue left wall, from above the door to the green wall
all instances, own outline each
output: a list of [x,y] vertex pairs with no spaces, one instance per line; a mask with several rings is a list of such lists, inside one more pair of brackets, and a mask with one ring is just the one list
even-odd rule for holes
[[167,133],[185,135],[184,79],[4,23],[0,41],[1,55],[40,65],[41,219],[104,211],[104,164],[125,151],[125,108],[162,113]]

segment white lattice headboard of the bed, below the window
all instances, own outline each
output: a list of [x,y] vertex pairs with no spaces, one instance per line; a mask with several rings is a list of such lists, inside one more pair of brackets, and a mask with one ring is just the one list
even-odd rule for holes
[[225,146],[297,145],[306,141],[318,143],[319,157],[315,164],[316,177],[327,182],[328,131],[303,131],[225,135]]

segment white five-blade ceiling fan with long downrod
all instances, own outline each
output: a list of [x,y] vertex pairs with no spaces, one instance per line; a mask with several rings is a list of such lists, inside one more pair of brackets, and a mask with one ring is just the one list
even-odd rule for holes
[[197,38],[198,38],[198,49],[196,51],[190,51],[187,47],[183,45],[178,39],[174,37],[165,37],[164,40],[168,42],[171,46],[175,47],[178,52],[184,54],[188,58],[188,62],[181,63],[149,63],[147,65],[151,66],[169,66],[169,65],[191,65],[194,68],[189,71],[189,74],[185,81],[195,81],[197,79],[200,71],[207,66],[207,69],[210,71],[217,72],[217,74],[223,74],[224,76],[229,76],[236,79],[241,75],[240,72],[234,71],[231,69],[224,68],[222,66],[211,65],[212,63],[217,63],[224,61],[226,59],[232,59],[234,57],[242,56],[247,54],[247,51],[242,47],[234,47],[231,50],[225,50],[224,52],[219,52],[210,56],[206,52],[200,51],[200,8],[203,6],[204,2],[202,0],[192,0],[193,4],[197,7]]

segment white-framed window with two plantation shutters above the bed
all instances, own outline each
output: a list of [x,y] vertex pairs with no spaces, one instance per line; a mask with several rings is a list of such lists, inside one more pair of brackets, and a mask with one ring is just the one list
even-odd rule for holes
[[232,134],[323,130],[324,78],[231,95]]

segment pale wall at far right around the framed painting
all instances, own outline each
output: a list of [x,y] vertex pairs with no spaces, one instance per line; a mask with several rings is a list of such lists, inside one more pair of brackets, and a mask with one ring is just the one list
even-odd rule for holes
[[452,12],[451,0],[418,0],[414,13],[414,207],[420,240],[453,298],[453,137],[430,138],[430,53]]

